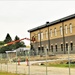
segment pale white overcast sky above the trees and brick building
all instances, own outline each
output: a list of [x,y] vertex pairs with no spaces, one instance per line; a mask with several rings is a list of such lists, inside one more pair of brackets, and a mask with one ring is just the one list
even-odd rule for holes
[[0,41],[7,33],[13,40],[30,38],[28,30],[74,13],[74,0],[0,0]]

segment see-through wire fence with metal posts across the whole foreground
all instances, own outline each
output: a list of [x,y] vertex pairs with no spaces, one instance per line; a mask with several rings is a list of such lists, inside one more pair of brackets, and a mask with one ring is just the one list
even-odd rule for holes
[[[59,66],[59,67],[57,67]],[[65,67],[66,68],[65,68]],[[63,67],[63,68],[62,68]],[[34,51],[0,54],[0,70],[28,75],[75,75],[75,55],[35,55]]]

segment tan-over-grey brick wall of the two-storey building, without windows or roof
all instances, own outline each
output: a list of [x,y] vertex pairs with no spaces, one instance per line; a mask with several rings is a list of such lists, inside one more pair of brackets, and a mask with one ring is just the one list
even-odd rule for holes
[[[70,33],[70,24],[72,24],[72,33]],[[67,34],[66,34],[66,28],[65,25],[67,25]],[[60,33],[60,26],[62,27],[62,35]],[[54,35],[54,29],[56,28],[57,35]],[[52,37],[50,35],[50,30],[52,29]],[[48,33],[48,37],[46,37],[46,32]],[[43,39],[38,40],[38,34],[43,33]],[[52,52],[54,54],[59,53],[67,53],[66,50],[66,43],[70,46],[71,43],[73,43],[73,50],[71,53],[75,53],[75,18],[54,24],[52,26],[48,26],[36,31],[33,31],[30,33],[30,38],[32,39],[33,36],[35,36],[36,41],[31,42],[35,49],[38,50],[38,47],[44,47],[48,48],[48,52]],[[40,34],[41,36],[41,34]],[[61,44],[63,45],[63,51],[61,50]],[[53,51],[51,50],[51,45],[53,45]],[[55,45],[57,45],[58,49],[56,51]]]

